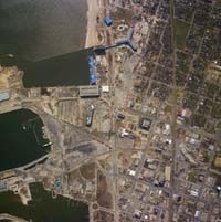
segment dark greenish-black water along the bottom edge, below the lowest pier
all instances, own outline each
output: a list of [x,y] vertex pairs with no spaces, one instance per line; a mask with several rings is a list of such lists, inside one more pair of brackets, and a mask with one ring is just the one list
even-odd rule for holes
[[32,201],[23,205],[13,192],[0,193],[0,213],[9,213],[32,222],[88,222],[88,207],[51,192],[41,183],[30,186]]

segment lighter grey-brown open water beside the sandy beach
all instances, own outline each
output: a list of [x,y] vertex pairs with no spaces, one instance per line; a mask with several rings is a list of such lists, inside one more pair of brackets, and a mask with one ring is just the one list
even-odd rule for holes
[[82,50],[86,0],[0,0],[0,49],[40,61]]

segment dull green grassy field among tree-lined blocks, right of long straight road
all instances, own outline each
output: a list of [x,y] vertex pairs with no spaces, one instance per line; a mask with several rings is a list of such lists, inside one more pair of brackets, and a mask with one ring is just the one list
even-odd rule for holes
[[186,44],[186,38],[189,31],[189,24],[175,19],[175,36],[177,49],[183,50]]

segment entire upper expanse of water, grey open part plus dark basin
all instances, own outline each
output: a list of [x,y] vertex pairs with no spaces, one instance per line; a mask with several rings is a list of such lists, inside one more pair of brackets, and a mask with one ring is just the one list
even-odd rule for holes
[[86,13],[86,0],[0,0],[0,63],[24,72],[24,87],[90,84]]

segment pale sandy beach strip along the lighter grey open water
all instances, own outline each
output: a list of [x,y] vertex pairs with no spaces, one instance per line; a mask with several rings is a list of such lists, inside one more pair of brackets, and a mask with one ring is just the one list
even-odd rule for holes
[[92,47],[98,44],[96,18],[102,9],[102,6],[99,0],[87,0],[87,33],[85,47]]

